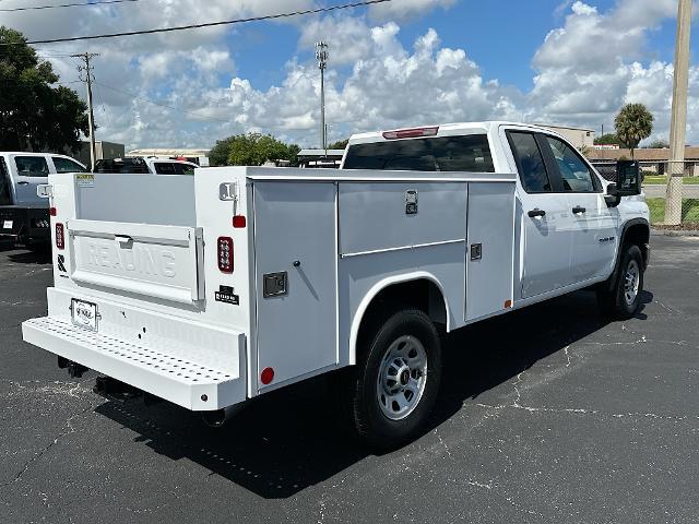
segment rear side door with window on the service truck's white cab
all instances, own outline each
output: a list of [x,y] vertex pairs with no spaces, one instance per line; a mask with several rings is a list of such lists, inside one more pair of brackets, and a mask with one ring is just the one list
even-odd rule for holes
[[519,204],[523,223],[520,276],[522,298],[534,297],[571,284],[572,234],[566,195],[558,178],[544,160],[541,136],[507,131],[520,177]]

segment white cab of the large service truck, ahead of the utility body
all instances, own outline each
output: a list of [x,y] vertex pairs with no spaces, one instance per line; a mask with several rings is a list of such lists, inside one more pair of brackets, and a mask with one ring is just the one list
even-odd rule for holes
[[[619,195],[564,136],[536,126],[474,122],[354,135],[341,169],[517,174],[518,306],[608,278],[626,236],[643,263],[650,217],[638,191]],[[612,193],[612,194],[611,194]]]

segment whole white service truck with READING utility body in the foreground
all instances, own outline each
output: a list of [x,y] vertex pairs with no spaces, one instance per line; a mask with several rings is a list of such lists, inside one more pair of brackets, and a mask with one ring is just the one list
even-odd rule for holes
[[340,170],[51,175],[56,282],[24,340],[213,425],[346,368],[356,431],[393,448],[436,402],[441,332],[588,287],[636,313],[649,211],[618,171],[486,122],[355,135]]

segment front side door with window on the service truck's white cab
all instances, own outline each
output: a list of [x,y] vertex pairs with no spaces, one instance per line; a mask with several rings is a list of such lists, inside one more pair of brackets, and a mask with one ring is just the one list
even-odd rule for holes
[[566,142],[544,135],[558,170],[572,218],[570,274],[576,283],[605,278],[615,260],[616,227],[604,202],[602,183],[580,154]]

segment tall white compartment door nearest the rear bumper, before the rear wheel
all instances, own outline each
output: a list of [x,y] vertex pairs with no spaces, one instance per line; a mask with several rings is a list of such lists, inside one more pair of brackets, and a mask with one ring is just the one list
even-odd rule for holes
[[335,188],[254,182],[258,391],[337,362]]

